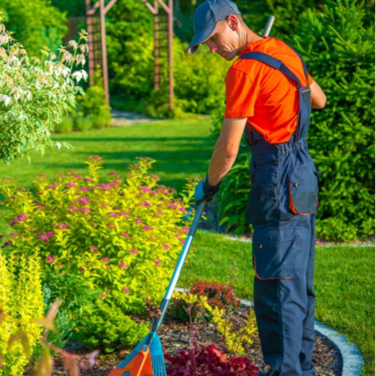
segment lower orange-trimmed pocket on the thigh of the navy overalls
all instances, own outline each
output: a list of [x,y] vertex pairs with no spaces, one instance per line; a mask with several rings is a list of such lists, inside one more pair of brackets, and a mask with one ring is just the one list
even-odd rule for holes
[[265,243],[253,240],[253,265],[259,280],[294,278],[296,275],[295,240]]

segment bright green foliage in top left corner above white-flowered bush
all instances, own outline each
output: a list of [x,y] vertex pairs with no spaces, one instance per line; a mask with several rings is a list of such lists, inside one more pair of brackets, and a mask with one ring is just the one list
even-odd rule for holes
[[66,15],[50,1],[2,0],[0,11],[29,56],[41,57],[41,50],[60,47],[68,31]]

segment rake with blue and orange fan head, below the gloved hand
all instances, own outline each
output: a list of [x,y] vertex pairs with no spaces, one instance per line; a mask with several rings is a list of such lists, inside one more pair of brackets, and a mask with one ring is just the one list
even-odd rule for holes
[[201,215],[205,209],[205,202],[201,202],[196,209],[192,225],[189,229],[188,236],[180,253],[175,270],[168,284],[167,291],[162,303],[154,312],[156,319],[149,334],[136,346],[136,348],[112,370],[108,376],[167,376],[164,365],[164,356],[161,340],[157,331],[161,327],[167,306],[170,302],[172,293],[178,282],[180,272],[187,258],[193,236],[196,233]]

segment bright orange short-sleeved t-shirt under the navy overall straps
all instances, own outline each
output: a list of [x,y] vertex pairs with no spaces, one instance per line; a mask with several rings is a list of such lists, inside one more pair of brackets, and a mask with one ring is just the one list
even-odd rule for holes
[[[241,55],[259,51],[281,60],[307,82],[299,56],[282,41],[265,37],[250,43]],[[308,85],[313,82],[308,75]],[[256,60],[237,59],[227,71],[225,118],[248,118],[266,141],[286,142],[296,130],[299,93],[296,83],[282,72]]]

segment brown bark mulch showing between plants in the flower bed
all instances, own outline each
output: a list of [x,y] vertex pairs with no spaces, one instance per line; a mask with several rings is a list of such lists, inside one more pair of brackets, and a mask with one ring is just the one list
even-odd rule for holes
[[[247,315],[246,308],[240,308],[235,320],[242,321]],[[142,319],[141,321],[143,321]],[[241,324],[241,323],[240,323]],[[170,355],[176,354],[179,349],[189,350],[192,340],[192,330],[189,324],[176,320],[166,315],[164,323],[158,332],[161,339],[164,353]],[[223,337],[211,323],[200,324],[194,331],[194,339],[204,346],[215,344],[223,348]],[[68,343],[67,350],[82,353],[85,349],[79,344]],[[132,350],[132,349],[131,349]],[[100,355],[93,369],[82,372],[83,376],[107,376],[108,373],[118,366],[124,359],[128,351],[120,351],[107,355]],[[247,356],[262,371],[267,371],[267,366],[263,363],[260,344],[257,334],[253,338],[253,344],[245,347],[245,353],[241,356]],[[316,367],[317,376],[340,376],[342,375],[342,358],[336,347],[326,337],[316,334],[316,342],[313,353],[313,364]],[[27,374],[25,374],[27,375]],[[29,374],[32,375],[32,374]],[[53,376],[68,375],[64,372],[63,364],[59,359],[55,360]],[[215,376],[215,375],[214,375]]]

